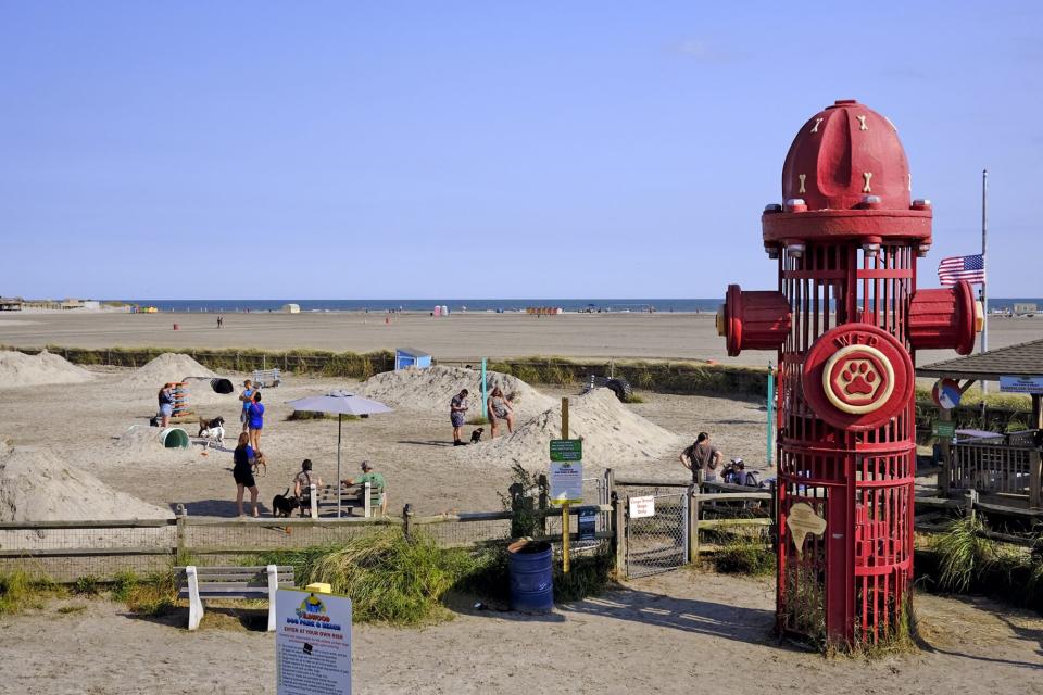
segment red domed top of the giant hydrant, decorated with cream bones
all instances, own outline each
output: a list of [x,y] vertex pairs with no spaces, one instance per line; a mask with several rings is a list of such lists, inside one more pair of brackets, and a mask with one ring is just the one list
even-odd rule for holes
[[909,210],[912,179],[894,124],[854,99],[812,116],[782,166],[782,200],[807,210]]

